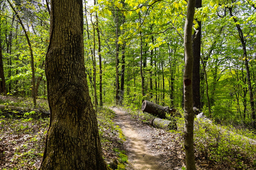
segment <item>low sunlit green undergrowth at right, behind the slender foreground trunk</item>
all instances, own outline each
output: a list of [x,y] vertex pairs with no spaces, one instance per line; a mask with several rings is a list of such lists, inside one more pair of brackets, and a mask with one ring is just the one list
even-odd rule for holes
[[[182,110],[180,113],[183,113]],[[183,132],[183,115],[178,131]],[[249,130],[216,125],[202,118],[194,121],[196,163],[205,169],[256,169],[256,138]]]

